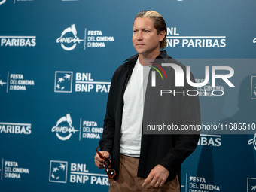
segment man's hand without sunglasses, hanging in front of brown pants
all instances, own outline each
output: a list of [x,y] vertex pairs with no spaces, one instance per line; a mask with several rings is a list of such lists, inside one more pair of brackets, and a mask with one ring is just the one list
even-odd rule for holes
[[148,189],[162,187],[168,176],[169,171],[165,167],[157,165],[151,170],[142,187],[148,186]]

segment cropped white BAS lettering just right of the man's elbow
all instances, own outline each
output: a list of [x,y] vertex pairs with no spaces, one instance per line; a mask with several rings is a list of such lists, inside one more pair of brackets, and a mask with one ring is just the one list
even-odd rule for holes
[[198,141],[198,145],[210,145],[215,147],[221,147],[221,135],[205,135],[200,134],[200,139]]

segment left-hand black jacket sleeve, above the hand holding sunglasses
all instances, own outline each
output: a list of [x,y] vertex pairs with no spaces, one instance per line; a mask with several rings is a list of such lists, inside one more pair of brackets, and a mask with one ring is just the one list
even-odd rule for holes
[[102,139],[99,140],[99,147],[101,151],[108,151],[111,154],[114,145],[114,131],[115,131],[115,105],[114,105],[114,84],[116,73],[111,79],[111,87],[108,93],[107,109],[103,124]]

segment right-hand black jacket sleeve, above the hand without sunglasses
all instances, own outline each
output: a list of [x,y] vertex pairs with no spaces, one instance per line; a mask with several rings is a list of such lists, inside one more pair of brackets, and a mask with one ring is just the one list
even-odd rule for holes
[[[191,80],[194,81],[193,75]],[[191,87],[184,81],[185,86],[182,89],[196,90],[196,87]],[[200,102],[199,96],[181,96],[180,98],[180,125],[197,125],[200,124]],[[197,142],[200,138],[198,130],[184,131],[184,134],[173,135],[175,145],[169,149],[169,152],[160,161],[160,165],[164,166],[169,171],[177,169],[181,163],[197,148]]]

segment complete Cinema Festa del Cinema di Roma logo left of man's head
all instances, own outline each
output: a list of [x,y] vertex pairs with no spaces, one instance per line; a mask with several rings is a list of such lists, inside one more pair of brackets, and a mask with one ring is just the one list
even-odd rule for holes
[[60,44],[64,50],[74,50],[78,44],[84,41],[84,50],[88,47],[104,48],[107,42],[114,42],[114,36],[105,36],[101,30],[84,29],[84,38],[78,38],[75,24],[64,29],[56,43]]

